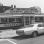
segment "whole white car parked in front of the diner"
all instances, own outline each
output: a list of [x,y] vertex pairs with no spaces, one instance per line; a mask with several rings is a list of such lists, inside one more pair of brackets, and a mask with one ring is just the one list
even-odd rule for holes
[[44,23],[31,24],[26,28],[16,30],[17,35],[33,35],[33,37],[41,33],[44,33]]

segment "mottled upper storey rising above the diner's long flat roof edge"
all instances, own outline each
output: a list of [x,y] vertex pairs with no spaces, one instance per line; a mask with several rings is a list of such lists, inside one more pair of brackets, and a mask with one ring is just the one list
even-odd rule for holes
[[5,13],[14,13],[14,14],[30,14],[30,13],[34,13],[35,14],[35,13],[41,13],[41,9],[38,8],[38,7],[16,8],[14,6],[13,9],[6,10]]

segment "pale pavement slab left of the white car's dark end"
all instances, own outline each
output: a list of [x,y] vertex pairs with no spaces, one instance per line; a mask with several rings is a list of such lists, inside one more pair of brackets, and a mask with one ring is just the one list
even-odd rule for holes
[[16,37],[16,30],[4,30],[0,33],[0,38]]

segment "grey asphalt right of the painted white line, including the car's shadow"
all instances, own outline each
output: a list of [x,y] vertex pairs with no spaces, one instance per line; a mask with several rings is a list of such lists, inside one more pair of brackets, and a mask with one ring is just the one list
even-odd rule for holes
[[44,44],[44,35],[39,35],[36,38],[32,38],[30,36],[19,36],[13,39],[16,40],[15,42],[17,44]]

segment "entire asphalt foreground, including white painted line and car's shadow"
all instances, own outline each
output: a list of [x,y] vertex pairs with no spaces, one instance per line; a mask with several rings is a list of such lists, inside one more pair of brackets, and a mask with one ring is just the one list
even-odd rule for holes
[[40,35],[36,38],[30,36],[18,36],[11,39],[0,40],[0,44],[44,44],[44,35]]

